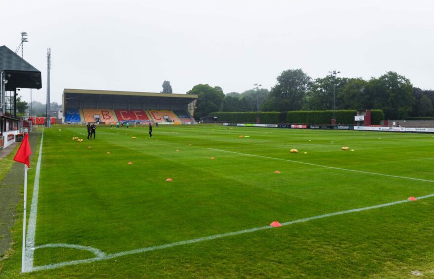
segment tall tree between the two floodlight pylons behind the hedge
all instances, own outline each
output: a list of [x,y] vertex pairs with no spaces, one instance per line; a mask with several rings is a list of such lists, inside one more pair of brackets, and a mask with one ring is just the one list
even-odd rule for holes
[[311,78],[302,69],[286,70],[277,77],[277,84],[271,89],[264,110],[290,111],[303,108]]

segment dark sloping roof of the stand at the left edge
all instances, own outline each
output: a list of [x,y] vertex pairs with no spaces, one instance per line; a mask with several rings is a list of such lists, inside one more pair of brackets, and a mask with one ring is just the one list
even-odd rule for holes
[[41,72],[6,46],[0,47],[1,71],[6,75],[6,90],[42,88]]

